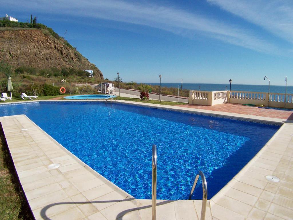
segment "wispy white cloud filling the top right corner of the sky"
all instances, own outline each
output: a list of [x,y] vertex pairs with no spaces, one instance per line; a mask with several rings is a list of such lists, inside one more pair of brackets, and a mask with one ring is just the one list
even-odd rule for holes
[[207,0],[274,35],[293,42],[292,0]]

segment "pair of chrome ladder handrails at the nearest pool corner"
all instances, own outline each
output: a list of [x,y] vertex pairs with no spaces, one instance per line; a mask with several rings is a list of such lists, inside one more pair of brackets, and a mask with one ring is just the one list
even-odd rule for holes
[[[207,180],[202,171],[199,171],[195,176],[193,186],[191,188],[189,198],[193,194],[198,178],[202,179],[202,210],[200,220],[205,220],[205,211],[207,207]],[[151,219],[156,220],[156,199],[157,199],[157,147],[154,144],[152,147],[152,184],[151,184]]]

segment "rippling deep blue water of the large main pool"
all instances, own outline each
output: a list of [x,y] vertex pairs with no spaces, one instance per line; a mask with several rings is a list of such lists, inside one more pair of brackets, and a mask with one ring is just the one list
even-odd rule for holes
[[[118,103],[0,105],[0,116],[25,114],[108,180],[151,199],[151,148],[157,145],[157,198],[187,199],[197,170],[216,194],[279,126]],[[202,197],[198,182],[193,199]]]

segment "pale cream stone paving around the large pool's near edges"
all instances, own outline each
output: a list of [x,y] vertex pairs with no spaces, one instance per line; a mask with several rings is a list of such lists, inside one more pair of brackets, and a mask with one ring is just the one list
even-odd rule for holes
[[[282,123],[259,153],[208,200],[206,219],[292,219],[292,120],[181,106],[117,102],[260,123]],[[0,121],[35,219],[151,219],[150,200],[135,199],[106,180],[25,115],[0,117]],[[49,169],[48,165],[52,163],[60,163],[61,166]],[[270,182],[265,179],[266,175],[275,175],[280,182]],[[200,219],[201,200],[157,200],[157,205],[158,220]]]

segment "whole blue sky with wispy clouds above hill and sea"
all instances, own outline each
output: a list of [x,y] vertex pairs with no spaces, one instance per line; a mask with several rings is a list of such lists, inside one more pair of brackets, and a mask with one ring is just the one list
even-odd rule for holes
[[113,80],[293,86],[292,0],[6,1],[30,14]]

